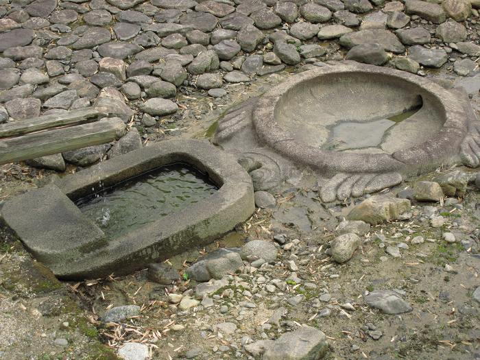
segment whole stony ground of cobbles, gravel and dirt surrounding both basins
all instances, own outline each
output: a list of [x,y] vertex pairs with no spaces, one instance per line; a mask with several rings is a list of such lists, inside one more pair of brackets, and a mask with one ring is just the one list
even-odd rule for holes
[[[125,151],[208,139],[234,104],[342,60],[464,86],[478,111],[479,3],[438,2],[0,0],[0,123],[96,106],[138,130]],[[3,165],[0,200],[115,145]],[[265,194],[270,207],[204,249],[82,283],[53,278],[2,229],[0,359],[270,360],[283,340],[285,359],[480,359],[475,171],[381,195],[455,170],[465,194],[412,200],[403,217],[349,228],[358,238],[338,240],[339,224],[364,199],[322,204],[312,180]],[[209,286],[191,268],[202,260]],[[383,295],[393,309],[374,306]]]

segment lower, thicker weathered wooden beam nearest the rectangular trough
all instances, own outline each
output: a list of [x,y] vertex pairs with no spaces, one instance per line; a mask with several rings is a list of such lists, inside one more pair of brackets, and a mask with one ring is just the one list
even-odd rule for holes
[[109,143],[125,133],[121,119],[71,126],[0,141],[0,165]]

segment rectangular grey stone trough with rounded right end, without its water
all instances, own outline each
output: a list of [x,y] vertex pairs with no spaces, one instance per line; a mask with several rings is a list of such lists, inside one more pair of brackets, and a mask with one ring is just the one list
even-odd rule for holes
[[[158,167],[184,163],[219,188],[204,199],[110,239],[75,201]],[[65,176],[9,200],[5,224],[34,257],[65,279],[127,274],[202,246],[254,212],[252,180],[231,155],[205,141],[163,141]]]

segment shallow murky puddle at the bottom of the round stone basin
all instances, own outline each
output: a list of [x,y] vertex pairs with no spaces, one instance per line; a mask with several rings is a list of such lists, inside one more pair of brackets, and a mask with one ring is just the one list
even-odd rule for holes
[[383,135],[392,126],[408,119],[418,112],[420,107],[400,112],[387,119],[379,119],[366,123],[348,121],[339,123],[332,130],[331,139],[322,146],[328,150],[361,149],[376,147],[382,142]]

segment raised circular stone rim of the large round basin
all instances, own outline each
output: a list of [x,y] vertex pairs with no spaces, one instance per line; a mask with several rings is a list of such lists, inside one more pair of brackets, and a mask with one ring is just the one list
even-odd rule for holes
[[[401,149],[394,154],[352,154],[322,150],[300,143],[283,131],[275,119],[276,105],[291,89],[301,82],[321,78],[322,75],[364,73],[365,76],[389,75],[392,81],[411,82],[420,86],[442,105],[446,121],[433,139],[415,147]],[[320,79],[319,79],[320,80]],[[348,85],[348,84],[346,84]],[[347,89],[346,89],[347,90]],[[375,95],[372,94],[374,97]],[[286,101],[282,99],[282,101]],[[343,64],[305,71],[275,86],[259,98],[253,112],[253,123],[261,142],[295,162],[309,165],[324,174],[335,173],[417,173],[458,160],[459,147],[468,128],[468,100],[455,89],[446,90],[426,78],[394,69],[366,64]]]

